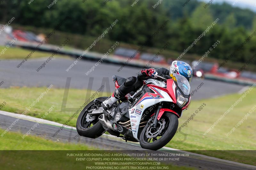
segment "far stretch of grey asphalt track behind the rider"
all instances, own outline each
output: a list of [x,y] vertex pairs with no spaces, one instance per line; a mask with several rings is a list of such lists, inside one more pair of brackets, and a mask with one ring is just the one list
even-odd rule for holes
[[[47,58],[45,58],[47,59]],[[97,90],[103,81],[107,78],[109,86],[104,91],[110,92],[114,90],[112,75],[119,75],[127,78],[136,76],[140,68],[125,66],[121,71],[117,72],[120,65],[111,63],[101,63],[96,66],[94,71],[89,75],[85,73],[89,71],[96,61],[80,60],[69,71],[66,69],[75,61],[74,58],[54,58],[45,65],[39,72],[36,71],[45,62],[45,59],[28,59],[20,68],[17,65],[19,60],[2,60],[0,62],[0,80],[4,81],[1,88],[10,86],[28,86],[41,87],[54,85],[55,88],[65,88],[67,78],[71,78],[70,88],[87,89],[89,79],[93,78],[92,89]],[[195,90],[198,85],[201,88],[192,96],[192,100],[206,99],[225,95],[229,93],[239,92],[243,89],[243,85],[229,84],[219,81],[192,78],[190,93]]]

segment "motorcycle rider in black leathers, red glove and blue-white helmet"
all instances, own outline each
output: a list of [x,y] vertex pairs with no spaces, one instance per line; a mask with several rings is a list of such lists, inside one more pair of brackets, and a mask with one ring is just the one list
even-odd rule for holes
[[182,61],[173,61],[172,65],[170,66],[170,70],[162,67],[159,69],[142,69],[140,70],[137,77],[129,77],[126,81],[117,88],[112,96],[101,103],[101,106],[107,111],[109,108],[116,103],[116,101],[120,100],[126,94],[138,90],[143,85],[143,80],[147,80],[149,78],[157,78],[155,75],[172,75],[172,73],[177,73],[185,78],[187,78],[188,82],[190,83],[192,78],[192,68],[188,63]]

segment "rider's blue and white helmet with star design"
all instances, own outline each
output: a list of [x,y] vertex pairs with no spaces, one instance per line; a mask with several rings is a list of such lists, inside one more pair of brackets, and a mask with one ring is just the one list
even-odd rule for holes
[[173,61],[170,67],[170,75],[172,73],[180,74],[185,78],[187,78],[189,83],[191,82],[192,68],[188,63],[185,63],[183,61],[177,61],[177,60]]

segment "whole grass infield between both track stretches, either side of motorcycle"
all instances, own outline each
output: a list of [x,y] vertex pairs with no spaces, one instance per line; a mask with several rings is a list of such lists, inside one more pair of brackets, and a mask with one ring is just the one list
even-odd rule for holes
[[[5,101],[6,105],[1,109],[13,113],[21,114],[26,107],[36,100],[36,98],[44,92],[46,87],[41,88],[7,88],[0,89],[0,101]],[[63,99],[64,89],[52,88],[43,99],[39,101],[26,114],[40,118],[44,115],[52,105],[56,108],[45,118],[50,121],[65,123],[72,112],[61,112],[61,104]],[[85,101],[86,90],[70,89],[68,93],[67,108],[80,107]],[[256,90],[252,90],[246,97],[239,102],[232,111],[229,112],[207,135],[204,132],[218,120],[220,115],[228,110],[228,108],[236,102],[241,94],[231,94],[216,99],[208,100],[193,100],[187,111],[183,113],[183,117],[179,119],[181,126],[191,114],[195,113],[203,103],[206,106],[191,120],[187,126],[183,127],[181,133],[176,134],[172,141],[166,146],[181,149],[192,150],[191,152],[202,153],[209,156],[214,156],[221,159],[228,159],[247,164],[255,164],[255,156],[251,152],[241,152],[243,150],[256,150],[256,128],[255,119],[256,112],[253,112],[244,123],[236,128],[236,131],[226,137],[226,134],[239,122],[245,114],[255,105]],[[90,96],[90,95],[89,95]],[[89,99],[89,96],[87,99]],[[105,92],[99,96],[108,96]],[[96,97],[95,97],[96,98]],[[77,117],[78,115],[76,115]],[[68,124],[76,126],[76,118],[72,119]],[[206,150],[206,151],[205,151]],[[215,150],[215,151],[212,151]],[[216,150],[230,150],[216,151]],[[235,151],[240,150],[240,151]],[[246,154],[245,154],[246,153]],[[242,155],[242,156],[241,156]]]

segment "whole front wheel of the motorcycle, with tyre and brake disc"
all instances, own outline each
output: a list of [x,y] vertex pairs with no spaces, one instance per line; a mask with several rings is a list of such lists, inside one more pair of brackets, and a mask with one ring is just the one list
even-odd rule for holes
[[164,147],[178,129],[179,121],[176,115],[165,112],[157,122],[156,128],[146,125],[140,133],[140,146],[144,149],[158,150]]

